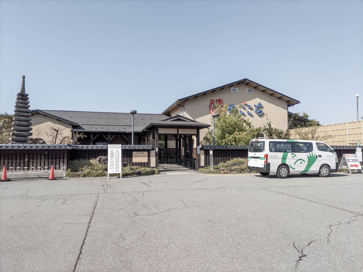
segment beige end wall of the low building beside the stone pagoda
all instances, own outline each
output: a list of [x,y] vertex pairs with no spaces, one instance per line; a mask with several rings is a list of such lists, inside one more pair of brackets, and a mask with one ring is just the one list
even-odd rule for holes
[[[53,126],[56,124],[56,126],[61,127],[62,129],[62,138],[65,136],[72,137],[71,129],[72,125],[63,121],[59,121],[57,119],[54,119],[52,117],[40,114],[40,113],[34,113],[32,116],[32,138],[41,138],[46,143],[50,143],[50,138],[46,135],[45,131],[49,130],[49,126]],[[61,138],[59,139],[61,141]],[[58,140],[57,140],[58,143]]]

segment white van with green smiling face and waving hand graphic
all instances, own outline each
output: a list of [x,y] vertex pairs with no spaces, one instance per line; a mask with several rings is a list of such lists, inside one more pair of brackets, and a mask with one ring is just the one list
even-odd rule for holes
[[280,139],[252,139],[248,149],[248,169],[267,176],[291,173],[329,176],[338,171],[335,150],[324,142]]

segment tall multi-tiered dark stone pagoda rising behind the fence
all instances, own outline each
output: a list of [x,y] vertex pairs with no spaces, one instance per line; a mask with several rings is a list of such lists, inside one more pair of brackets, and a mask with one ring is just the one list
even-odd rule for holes
[[15,101],[15,113],[11,128],[10,142],[12,143],[27,143],[29,136],[33,133],[30,132],[32,118],[30,118],[29,97],[25,93],[25,76],[22,76],[20,93],[17,94]]

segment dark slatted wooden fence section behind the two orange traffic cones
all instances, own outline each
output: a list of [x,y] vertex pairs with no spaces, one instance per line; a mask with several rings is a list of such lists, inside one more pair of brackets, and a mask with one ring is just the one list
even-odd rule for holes
[[67,167],[67,150],[1,150],[1,167],[7,171],[63,170]]

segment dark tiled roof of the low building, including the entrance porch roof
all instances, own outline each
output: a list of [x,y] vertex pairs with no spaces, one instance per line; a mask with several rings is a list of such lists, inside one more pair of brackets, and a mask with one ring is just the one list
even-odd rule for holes
[[[131,132],[132,115],[130,113],[107,113],[94,111],[66,111],[66,110],[32,110],[31,113],[45,113],[50,117],[58,117],[74,125],[77,132]],[[210,125],[185,118],[185,121],[163,121],[170,119],[166,114],[134,114],[134,131],[141,132],[153,125],[158,126],[190,126],[209,127]]]

